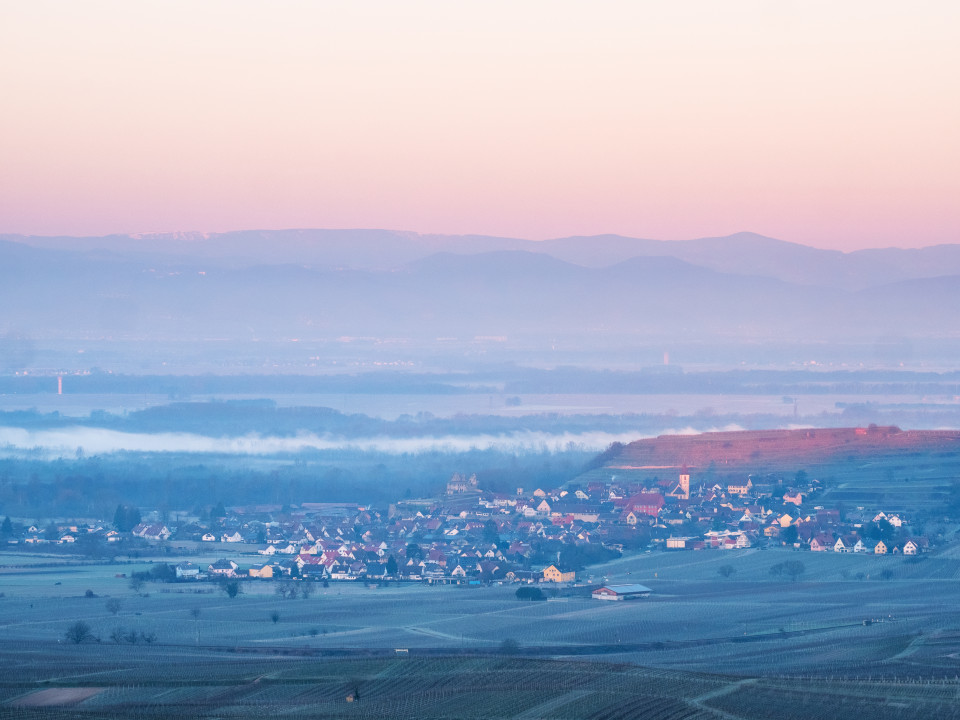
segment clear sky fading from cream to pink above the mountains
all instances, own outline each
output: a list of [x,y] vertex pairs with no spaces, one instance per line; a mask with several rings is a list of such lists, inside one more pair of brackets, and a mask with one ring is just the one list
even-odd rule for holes
[[960,3],[0,0],[0,233],[960,242]]

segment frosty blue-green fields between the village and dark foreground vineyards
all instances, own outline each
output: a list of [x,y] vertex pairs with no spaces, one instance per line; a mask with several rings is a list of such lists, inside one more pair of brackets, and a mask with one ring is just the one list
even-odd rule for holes
[[[796,559],[805,567],[796,581],[770,573]],[[615,654],[704,671],[736,656],[741,670],[762,673],[778,664],[796,671],[873,666],[902,650],[901,641],[889,638],[960,628],[960,561],[952,557],[654,552],[586,574],[596,583],[654,589],[650,598],[626,603],[575,596],[521,602],[509,585],[356,582],[314,583],[311,597],[286,600],[275,584],[260,580],[244,582],[243,593],[231,599],[206,583],[151,582],[134,592],[126,576],[148,569],[147,562],[10,565],[0,571],[0,641],[12,642],[57,643],[71,622],[83,620],[104,643],[116,628],[155,635],[160,645],[287,650],[490,651],[510,641],[538,655]],[[731,577],[720,576],[722,565],[734,568]],[[110,599],[119,600],[115,613]]]

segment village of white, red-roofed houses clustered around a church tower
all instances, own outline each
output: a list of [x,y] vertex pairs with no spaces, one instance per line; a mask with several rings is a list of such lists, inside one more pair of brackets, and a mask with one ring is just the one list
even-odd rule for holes
[[[606,480],[537,488],[513,495],[482,489],[454,474],[437,497],[388,508],[357,504],[218,505],[206,517],[121,506],[113,523],[3,523],[7,547],[60,546],[122,555],[153,548],[170,556],[163,579],[300,578],[319,581],[572,584],[589,566],[641,551],[798,551],[916,555],[928,538],[911,533],[902,513],[817,504],[819,481],[797,472],[782,479],[692,482]],[[198,555],[221,555],[195,562]],[[178,559],[178,558],[184,559]]]

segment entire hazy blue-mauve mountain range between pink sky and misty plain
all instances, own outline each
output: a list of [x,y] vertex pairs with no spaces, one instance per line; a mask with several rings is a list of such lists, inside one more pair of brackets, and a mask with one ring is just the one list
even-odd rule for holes
[[387,230],[0,236],[0,333],[900,342],[960,336],[960,245],[750,233],[543,242]]

